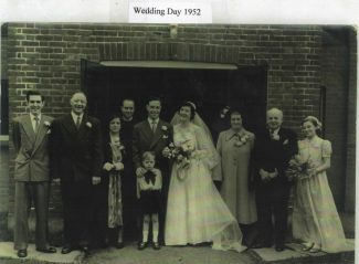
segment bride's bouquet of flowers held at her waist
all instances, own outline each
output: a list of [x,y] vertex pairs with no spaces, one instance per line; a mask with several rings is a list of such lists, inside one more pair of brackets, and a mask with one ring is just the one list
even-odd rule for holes
[[187,169],[189,167],[190,157],[194,150],[194,146],[190,140],[186,140],[178,146],[173,142],[170,142],[168,145],[168,149],[169,154],[167,155],[167,158],[175,160],[179,168]]

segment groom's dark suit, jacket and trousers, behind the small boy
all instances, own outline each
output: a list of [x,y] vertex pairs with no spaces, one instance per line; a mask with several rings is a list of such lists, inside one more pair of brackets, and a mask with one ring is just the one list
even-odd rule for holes
[[170,167],[169,160],[162,156],[163,148],[173,140],[173,128],[170,124],[159,120],[156,133],[151,130],[148,120],[138,123],[134,127],[133,136],[133,159],[135,167],[141,167],[141,155],[145,151],[152,151],[156,155],[156,168],[162,173],[161,208],[159,215],[159,237],[163,241],[163,225],[167,209],[167,196],[169,187]]

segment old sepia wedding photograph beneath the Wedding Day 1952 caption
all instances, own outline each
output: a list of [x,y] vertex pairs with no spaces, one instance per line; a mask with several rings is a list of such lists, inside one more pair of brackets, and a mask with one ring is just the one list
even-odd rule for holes
[[1,24],[0,262],[353,263],[353,25]]

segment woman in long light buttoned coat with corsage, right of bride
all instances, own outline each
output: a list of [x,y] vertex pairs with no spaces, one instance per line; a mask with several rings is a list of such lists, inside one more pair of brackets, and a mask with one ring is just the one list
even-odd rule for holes
[[250,159],[255,137],[244,129],[240,112],[233,110],[230,122],[231,128],[220,134],[217,144],[223,176],[221,194],[240,223],[243,243],[249,245],[253,223],[257,220],[255,196],[249,189]]

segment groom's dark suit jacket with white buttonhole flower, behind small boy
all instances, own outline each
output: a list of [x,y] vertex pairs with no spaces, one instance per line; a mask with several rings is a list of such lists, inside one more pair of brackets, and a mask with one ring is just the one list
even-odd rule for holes
[[152,151],[156,155],[158,168],[162,169],[168,159],[162,156],[162,150],[173,140],[173,127],[159,119],[156,133],[151,130],[148,120],[140,122],[134,127],[133,135],[133,159],[136,168],[141,166],[141,155]]

